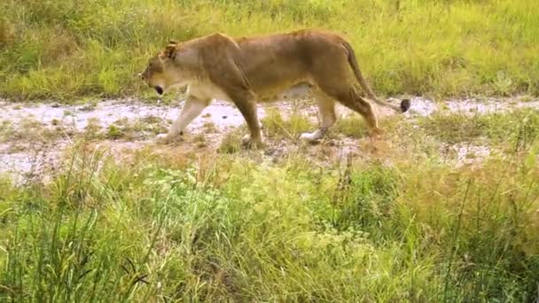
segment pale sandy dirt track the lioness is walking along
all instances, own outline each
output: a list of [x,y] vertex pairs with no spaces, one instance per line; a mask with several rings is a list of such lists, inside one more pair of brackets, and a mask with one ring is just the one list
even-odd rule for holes
[[[168,146],[156,145],[153,138],[165,132],[183,106],[149,104],[135,99],[102,100],[79,105],[62,105],[54,102],[12,103],[0,101],[0,175],[10,175],[16,183],[35,177],[51,175],[66,161],[64,151],[82,139],[94,147],[105,147],[116,159],[131,151],[150,149],[152,152],[212,153],[223,146],[228,134],[244,127],[238,110],[229,103],[215,100],[212,105],[187,128],[184,139]],[[488,98],[446,100],[434,102],[423,97],[411,99],[411,108],[405,119],[414,119],[437,112],[486,114],[504,112],[518,107],[539,108],[539,100],[519,98]],[[313,127],[317,125],[317,110],[309,100],[281,101],[259,105],[263,120],[271,110],[277,110],[286,119],[297,111],[308,117]],[[379,119],[394,115],[375,106]],[[348,109],[338,106],[340,118],[349,116]],[[301,144],[297,138],[271,137],[260,157],[278,161],[288,151]],[[239,140],[239,136],[236,137]],[[329,144],[303,146],[312,157],[321,161],[343,159],[349,154],[369,157],[372,149],[368,138],[349,136],[332,137]],[[375,146],[376,147],[376,146]],[[456,165],[477,161],[490,153],[488,146],[455,144],[446,147],[454,151]],[[305,150],[306,149],[306,150]],[[376,148],[374,148],[376,150]],[[473,157],[468,157],[473,153]]]

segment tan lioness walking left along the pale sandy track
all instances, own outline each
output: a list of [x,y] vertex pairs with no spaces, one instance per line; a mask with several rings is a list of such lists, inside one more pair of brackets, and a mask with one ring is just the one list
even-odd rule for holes
[[[350,71],[355,80],[350,77]],[[142,80],[159,95],[173,86],[189,85],[184,108],[168,134],[158,143],[168,144],[182,134],[213,99],[234,103],[246,120],[250,135],[243,144],[262,144],[256,101],[273,100],[287,89],[310,89],[316,97],[321,123],[301,139],[316,141],[335,123],[335,101],[360,113],[371,135],[381,131],[367,100],[358,95],[354,82],[379,105],[406,112],[410,100],[400,105],[382,102],[363,78],[350,44],[328,31],[306,29],[285,34],[232,38],[220,33],[183,43],[171,41],[149,60]]]

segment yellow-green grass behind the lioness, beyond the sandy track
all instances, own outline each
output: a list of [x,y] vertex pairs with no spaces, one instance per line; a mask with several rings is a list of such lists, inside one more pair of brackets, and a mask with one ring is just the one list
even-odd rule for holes
[[169,39],[304,27],[348,36],[380,95],[537,96],[534,0],[7,0],[0,96],[148,97],[138,79]]

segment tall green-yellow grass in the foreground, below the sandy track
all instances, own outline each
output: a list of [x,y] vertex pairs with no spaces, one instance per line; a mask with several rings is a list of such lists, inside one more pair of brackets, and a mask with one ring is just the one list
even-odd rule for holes
[[0,298],[533,301],[538,151],[323,170],[78,151],[49,185],[0,184]]

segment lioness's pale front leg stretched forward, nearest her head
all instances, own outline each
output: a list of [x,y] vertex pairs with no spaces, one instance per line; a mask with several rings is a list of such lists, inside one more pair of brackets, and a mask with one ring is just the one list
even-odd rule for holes
[[182,108],[182,111],[168,130],[168,133],[157,135],[155,141],[158,144],[169,144],[173,142],[176,136],[182,134],[189,123],[202,113],[207,105],[209,105],[210,100],[200,99],[194,96],[187,97],[184,108]]

